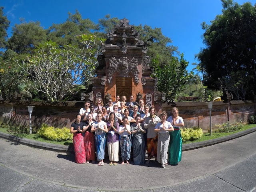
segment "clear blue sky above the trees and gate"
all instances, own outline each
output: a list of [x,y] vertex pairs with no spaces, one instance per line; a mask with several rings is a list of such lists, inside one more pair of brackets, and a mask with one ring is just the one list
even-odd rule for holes
[[[47,29],[53,23],[65,22],[68,11],[72,14],[77,9],[82,18],[89,18],[97,23],[106,14],[119,19],[127,18],[130,24],[149,25],[152,28],[162,28],[162,33],[172,40],[172,45],[178,46],[189,62],[188,71],[192,70],[194,56],[204,47],[201,23],[210,24],[215,16],[221,14],[220,0],[0,0],[4,6],[4,14],[10,20],[8,37],[11,36],[12,26],[20,24],[20,18],[26,22],[40,21]],[[238,4],[256,0],[234,0]]]

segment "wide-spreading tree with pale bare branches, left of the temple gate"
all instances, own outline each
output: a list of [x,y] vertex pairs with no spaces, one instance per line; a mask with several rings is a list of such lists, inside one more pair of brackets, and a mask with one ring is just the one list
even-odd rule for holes
[[[87,82],[94,76],[97,63],[97,48],[94,35],[77,36],[80,46],[64,45],[56,42],[40,44],[28,62],[16,63],[26,74],[25,84],[46,94],[47,100],[61,101],[72,93],[77,85]],[[80,48],[81,47],[81,48]]]

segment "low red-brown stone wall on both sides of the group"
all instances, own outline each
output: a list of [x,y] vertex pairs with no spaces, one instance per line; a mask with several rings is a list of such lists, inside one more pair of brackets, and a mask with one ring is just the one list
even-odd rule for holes
[[[70,127],[84,102],[0,102],[0,121],[19,126],[29,126],[28,105],[35,106],[32,112],[32,127],[38,129],[42,123],[54,127]],[[166,111],[172,114],[172,107],[179,109],[185,127],[200,127],[206,132],[210,127],[209,109],[205,102],[176,102],[174,105],[160,103],[156,106],[158,114]],[[159,109],[158,109],[159,108]],[[227,121],[242,120],[248,122],[249,116],[255,114],[256,104],[251,101],[231,101],[229,103],[213,102],[212,128]]]

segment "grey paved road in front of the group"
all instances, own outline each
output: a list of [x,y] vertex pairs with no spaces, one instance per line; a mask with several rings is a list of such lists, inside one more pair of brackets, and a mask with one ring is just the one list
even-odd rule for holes
[[76,164],[74,155],[0,139],[0,192],[255,191],[256,132],[182,152],[178,166]]

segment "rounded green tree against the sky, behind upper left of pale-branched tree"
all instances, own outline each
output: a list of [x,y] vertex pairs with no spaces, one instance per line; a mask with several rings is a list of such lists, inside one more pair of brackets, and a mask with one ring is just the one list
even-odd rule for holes
[[22,22],[12,28],[12,36],[8,39],[8,48],[19,54],[31,53],[40,43],[46,41],[46,30],[40,22]]

